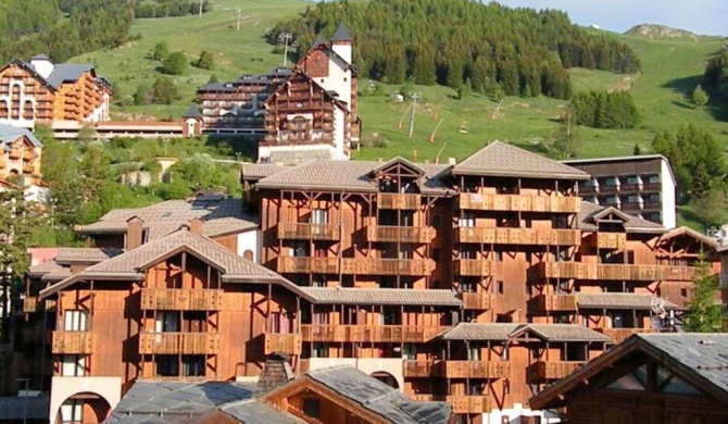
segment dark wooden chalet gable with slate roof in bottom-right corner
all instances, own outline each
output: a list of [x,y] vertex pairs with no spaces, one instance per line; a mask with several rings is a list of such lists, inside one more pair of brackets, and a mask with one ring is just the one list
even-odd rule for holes
[[725,334],[636,335],[530,403],[569,424],[726,423],[727,351]]

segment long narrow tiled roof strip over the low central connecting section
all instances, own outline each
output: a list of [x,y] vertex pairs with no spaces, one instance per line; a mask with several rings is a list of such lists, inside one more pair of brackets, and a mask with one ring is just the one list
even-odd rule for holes
[[415,290],[397,288],[325,288],[301,287],[313,298],[314,303],[324,304],[402,304],[402,305],[451,305],[462,302],[451,290]]

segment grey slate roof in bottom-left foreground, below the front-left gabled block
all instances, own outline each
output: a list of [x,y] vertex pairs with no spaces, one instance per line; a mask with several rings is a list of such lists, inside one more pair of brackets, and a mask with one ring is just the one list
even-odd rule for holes
[[178,423],[252,396],[251,386],[235,383],[137,382],[103,422]]

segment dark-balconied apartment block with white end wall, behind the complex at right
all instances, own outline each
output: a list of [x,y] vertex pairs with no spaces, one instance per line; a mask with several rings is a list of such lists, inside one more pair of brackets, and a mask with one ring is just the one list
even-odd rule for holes
[[563,163],[591,175],[579,184],[579,196],[586,200],[614,207],[666,228],[677,226],[677,180],[669,161],[662,154],[575,159]]

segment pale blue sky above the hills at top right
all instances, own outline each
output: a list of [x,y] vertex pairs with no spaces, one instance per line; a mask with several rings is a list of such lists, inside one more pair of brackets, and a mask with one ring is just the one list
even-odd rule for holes
[[558,9],[572,22],[624,33],[639,24],[661,24],[698,35],[728,35],[728,0],[498,0],[516,8]]

